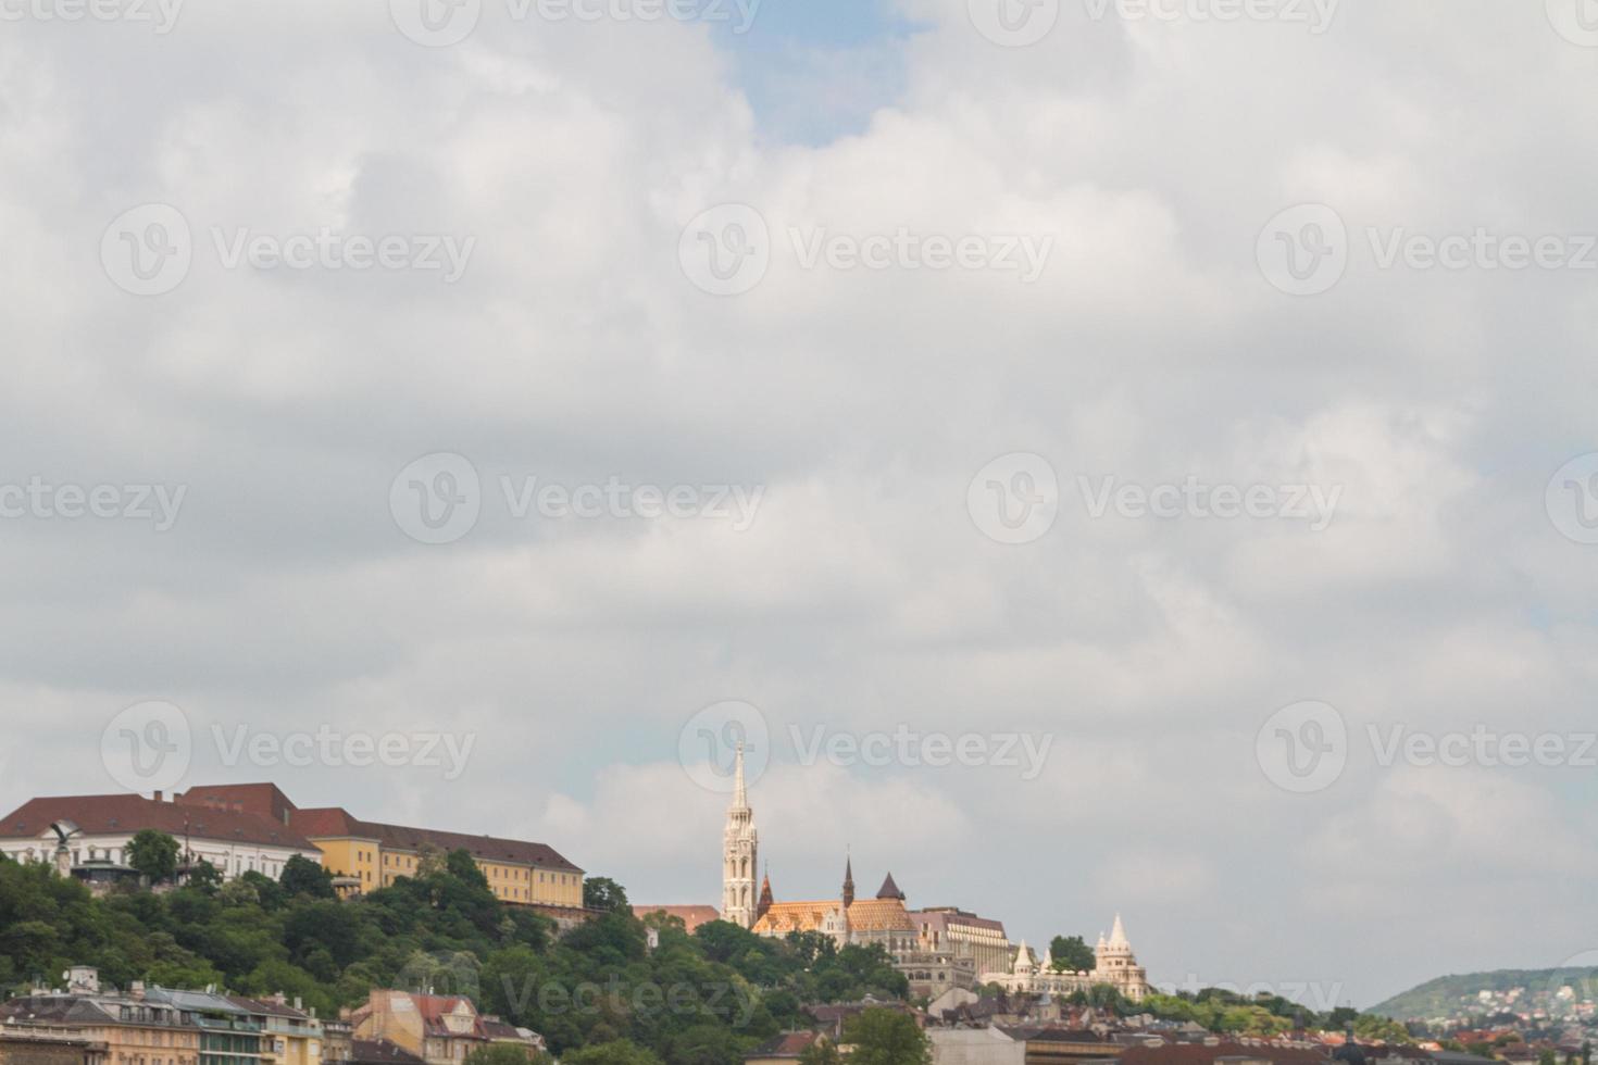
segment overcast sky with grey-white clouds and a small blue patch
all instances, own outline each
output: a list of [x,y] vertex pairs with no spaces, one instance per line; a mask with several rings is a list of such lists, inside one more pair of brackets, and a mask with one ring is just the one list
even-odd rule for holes
[[1544,8],[0,0],[0,806],[714,904],[743,736],[778,897],[1318,1006],[1598,947]]

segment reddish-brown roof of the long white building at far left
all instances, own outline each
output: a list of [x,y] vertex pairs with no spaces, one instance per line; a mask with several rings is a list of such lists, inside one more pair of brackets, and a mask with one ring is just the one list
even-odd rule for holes
[[189,803],[158,803],[141,795],[30,798],[0,819],[0,838],[37,840],[48,833],[54,840],[50,825],[56,821],[72,821],[89,835],[155,829],[177,840],[192,835],[213,841],[260,843],[316,853],[315,845],[299,832],[260,814]]

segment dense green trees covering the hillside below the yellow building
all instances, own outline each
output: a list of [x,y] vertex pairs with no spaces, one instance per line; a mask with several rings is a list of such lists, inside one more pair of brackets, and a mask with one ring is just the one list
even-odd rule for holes
[[160,894],[96,899],[46,865],[3,864],[0,984],[91,964],[117,987],[283,992],[321,1016],[376,987],[435,987],[543,1033],[564,1065],[740,1065],[778,1031],[809,1027],[801,1003],[908,990],[877,945],[762,939],[721,921],[689,936],[681,921],[657,921],[649,948],[644,923],[620,909],[620,885],[606,888],[615,909],[558,936],[537,912],[499,902],[463,851],[423,865],[339,901],[297,865],[281,881],[190,878]]

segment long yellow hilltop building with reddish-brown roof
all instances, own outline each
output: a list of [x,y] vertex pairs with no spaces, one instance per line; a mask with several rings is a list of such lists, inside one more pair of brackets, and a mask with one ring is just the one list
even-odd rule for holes
[[342,806],[300,810],[272,784],[193,787],[181,802],[254,811],[292,827],[321,851],[323,867],[345,896],[414,877],[428,849],[463,849],[500,902],[539,907],[555,917],[582,915],[583,870],[543,843],[360,821]]

